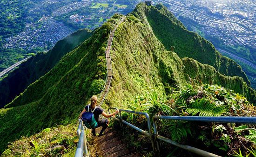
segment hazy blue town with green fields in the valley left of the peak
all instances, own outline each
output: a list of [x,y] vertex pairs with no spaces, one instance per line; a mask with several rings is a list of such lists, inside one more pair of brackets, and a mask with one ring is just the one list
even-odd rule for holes
[[[54,5],[57,0],[45,0],[28,11],[40,12],[44,5]],[[21,48],[28,52],[40,47],[44,50],[51,48],[54,44],[67,37],[80,28],[94,29],[100,26],[107,19],[110,13],[122,13],[127,5],[109,5],[108,0],[81,0],[73,1],[61,6],[53,12],[43,15],[38,21],[27,23],[24,30],[15,36],[6,38],[3,42],[4,49]],[[88,13],[88,9],[91,13]],[[77,14],[78,10],[82,10]],[[83,12],[84,11],[84,12]],[[126,13],[126,12],[125,12]],[[70,15],[71,14],[71,15]],[[64,17],[64,18],[63,18]]]

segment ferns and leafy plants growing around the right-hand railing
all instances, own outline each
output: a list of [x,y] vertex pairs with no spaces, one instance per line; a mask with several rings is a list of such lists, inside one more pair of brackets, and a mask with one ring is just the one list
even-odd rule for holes
[[[151,89],[146,94],[137,96],[127,107],[146,112],[150,117],[153,115],[256,116],[256,107],[243,95],[217,85],[194,84],[193,86],[175,89],[170,95],[162,95]],[[145,123],[145,118],[135,114],[124,114],[124,117],[136,126],[148,130],[147,126],[142,125]],[[221,156],[227,154],[230,156],[239,150],[243,155],[252,155],[251,151],[256,149],[256,128],[253,125],[159,120],[158,131],[161,135],[181,144],[192,145]],[[163,144],[162,149],[165,150],[163,152],[172,152],[173,147],[169,150],[168,144]],[[182,150],[175,153],[184,155]]]

